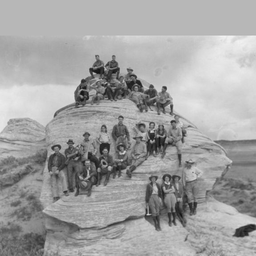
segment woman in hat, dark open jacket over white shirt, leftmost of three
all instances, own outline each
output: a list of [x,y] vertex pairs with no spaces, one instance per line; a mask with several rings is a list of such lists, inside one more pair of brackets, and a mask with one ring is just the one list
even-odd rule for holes
[[146,205],[149,206],[151,212],[153,221],[155,223],[156,231],[160,231],[160,208],[161,208],[161,202],[163,199],[162,189],[158,183],[156,183],[156,180],[158,179],[158,176],[152,175],[149,177],[149,180],[151,181],[147,185],[146,189]]

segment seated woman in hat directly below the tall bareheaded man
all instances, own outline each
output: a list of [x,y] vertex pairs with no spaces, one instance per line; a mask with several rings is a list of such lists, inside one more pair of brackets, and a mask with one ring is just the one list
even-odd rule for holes
[[113,179],[116,178],[116,168],[118,168],[118,178],[121,176],[121,170],[124,170],[127,167],[128,154],[126,152],[126,146],[123,143],[120,143],[116,146],[118,150],[117,159],[114,160],[113,164]]

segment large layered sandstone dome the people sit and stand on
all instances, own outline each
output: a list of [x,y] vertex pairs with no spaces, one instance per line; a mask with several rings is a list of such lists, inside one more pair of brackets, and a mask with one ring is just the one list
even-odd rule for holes
[[[143,84],[148,86],[145,81]],[[62,153],[67,148],[66,142],[69,138],[75,141],[75,145],[79,144],[85,131],[90,132],[91,138],[95,139],[102,124],[106,124],[108,132],[111,133],[120,114],[124,116],[124,124],[127,125],[131,137],[135,134],[133,127],[139,121],[147,126],[150,121],[155,121],[157,125],[164,124],[168,129],[170,120],[174,118],[162,113],[158,116],[156,109],[153,112],[149,110],[140,113],[128,99],[117,102],[103,100],[100,105],[87,104],[81,108],[74,108],[74,104],[71,104],[57,111],[46,127],[48,156],[52,154],[53,144],[61,144]],[[183,144],[182,159],[196,160],[197,167],[204,171],[199,183],[200,203],[205,205],[206,192],[211,190],[216,179],[228,170],[232,161],[227,158],[220,145],[203,135],[185,118],[181,117],[181,120],[191,126],[187,129],[188,136]],[[114,152],[114,142],[111,140],[111,153]],[[189,234],[188,228],[184,229],[181,225],[169,228],[165,214],[161,218],[164,222],[163,232],[156,233],[153,226],[144,219],[148,177],[157,174],[161,182],[161,177],[167,172],[171,175],[180,175],[182,172],[182,168],[178,167],[176,147],[168,146],[164,160],[160,156],[150,156],[133,172],[132,179],[122,171],[122,176],[115,180],[111,177],[106,187],[93,187],[91,197],[74,197],[72,193],[52,204],[46,163],[41,192],[48,231],[45,256],[58,250],[62,256],[77,256],[79,253],[90,256],[172,255],[172,251],[175,251],[175,255],[195,255],[196,248],[185,239]],[[203,206],[200,208],[202,211],[205,209]],[[213,209],[212,212],[214,211]],[[212,212],[208,214],[208,218]],[[198,216],[204,218],[203,213]],[[198,216],[196,219],[200,223]],[[189,225],[193,225],[192,218],[189,222]],[[177,245],[179,250],[175,249]]]

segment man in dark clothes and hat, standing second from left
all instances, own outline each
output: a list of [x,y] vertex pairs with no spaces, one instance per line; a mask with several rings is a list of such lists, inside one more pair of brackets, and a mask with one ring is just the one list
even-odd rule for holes
[[65,149],[65,156],[67,158],[66,165],[67,165],[67,174],[68,174],[68,189],[70,192],[74,192],[73,188],[73,172],[79,172],[82,164],[80,161],[80,152],[79,149],[76,147],[74,148],[74,141],[69,139],[68,148]]

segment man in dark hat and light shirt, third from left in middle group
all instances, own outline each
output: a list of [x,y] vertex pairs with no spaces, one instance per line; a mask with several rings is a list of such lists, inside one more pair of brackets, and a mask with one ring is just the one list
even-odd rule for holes
[[84,163],[86,159],[89,159],[95,164],[97,169],[99,168],[99,159],[96,157],[96,141],[89,139],[89,137],[91,136],[89,132],[84,132],[83,136],[84,140],[80,144],[81,161],[82,163]]

